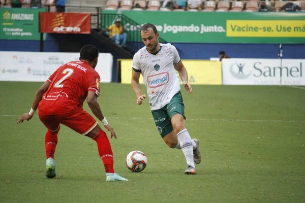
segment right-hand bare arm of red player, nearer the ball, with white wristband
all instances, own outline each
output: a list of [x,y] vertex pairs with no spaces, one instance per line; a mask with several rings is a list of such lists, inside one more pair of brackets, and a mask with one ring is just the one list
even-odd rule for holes
[[[88,91],[88,95],[87,95],[87,104],[89,106],[89,108],[91,109],[92,113],[100,120],[100,121],[104,121],[103,124],[105,126],[105,128],[111,132],[111,138],[114,137],[115,139],[117,139],[116,133],[114,132],[113,127],[111,127],[111,125],[109,125],[109,123],[107,122],[107,120],[105,120],[105,117],[102,113],[101,107],[98,103],[98,96],[94,91]],[[105,123],[106,122],[106,123]]]

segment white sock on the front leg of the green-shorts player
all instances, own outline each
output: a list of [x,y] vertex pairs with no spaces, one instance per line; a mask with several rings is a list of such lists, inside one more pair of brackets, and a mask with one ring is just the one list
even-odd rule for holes
[[184,153],[187,164],[195,167],[194,164],[194,154],[193,154],[193,144],[191,136],[187,129],[183,129],[177,134],[178,141],[180,143],[180,147],[182,152]]

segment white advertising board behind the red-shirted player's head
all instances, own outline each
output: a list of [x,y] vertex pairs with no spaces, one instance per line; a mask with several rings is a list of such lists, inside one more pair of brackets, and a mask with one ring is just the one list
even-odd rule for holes
[[[112,55],[100,53],[96,71],[102,83],[111,82]],[[0,51],[0,81],[44,82],[60,66],[79,60],[79,53]]]

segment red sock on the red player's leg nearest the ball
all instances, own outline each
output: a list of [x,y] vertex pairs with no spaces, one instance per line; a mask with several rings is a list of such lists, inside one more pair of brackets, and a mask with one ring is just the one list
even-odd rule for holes
[[114,173],[113,153],[106,132],[101,130],[99,133],[97,133],[93,140],[98,143],[99,154],[104,162],[106,173]]

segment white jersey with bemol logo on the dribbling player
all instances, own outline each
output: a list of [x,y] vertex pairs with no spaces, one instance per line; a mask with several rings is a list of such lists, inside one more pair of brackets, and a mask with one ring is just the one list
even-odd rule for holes
[[174,68],[179,61],[177,49],[171,44],[160,43],[160,50],[156,54],[149,53],[143,47],[134,55],[132,68],[143,76],[150,110],[161,109],[180,91]]

